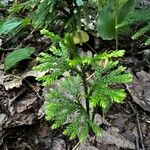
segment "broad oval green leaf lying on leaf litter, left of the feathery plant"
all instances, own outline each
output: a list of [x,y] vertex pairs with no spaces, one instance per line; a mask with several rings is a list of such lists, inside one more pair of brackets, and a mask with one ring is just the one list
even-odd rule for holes
[[33,54],[34,52],[35,52],[34,47],[20,48],[14,50],[10,54],[8,54],[8,56],[6,56],[4,60],[5,70],[9,70],[21,60],[28,59],[30,55]]

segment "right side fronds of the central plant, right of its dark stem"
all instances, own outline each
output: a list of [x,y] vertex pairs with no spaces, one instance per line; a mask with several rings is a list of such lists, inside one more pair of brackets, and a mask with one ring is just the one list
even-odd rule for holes
[[132,75],[125,73],[126,67],[118,67],[118,61],[109,60],[116,55],[121,57],[123,54],[124,51],[104,52],[102,56],[99,54],[99,58],[102,58],[102,61],[92,63],[92,67],[95,70],[92,83],[93,93],[90,97],[92,107],[100,106],[102,110],[106,110],[110,104],[122,103],[125,99],[125,91],[112,88],[112,85],[131,82]]

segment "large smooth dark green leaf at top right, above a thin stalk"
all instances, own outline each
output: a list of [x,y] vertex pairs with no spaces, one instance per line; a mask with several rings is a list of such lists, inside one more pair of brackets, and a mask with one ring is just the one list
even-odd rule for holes
[[[135,0],[122,0],[122,3],[118,1],[116,6],[116,0],[111,0],[107,3],[99,12],[97,21],[98,34],[105,40],[112,40],[116,37],[116,25],[120,24],[125,17],[133,10]],[[115,22],[117,13],[117,24]]]

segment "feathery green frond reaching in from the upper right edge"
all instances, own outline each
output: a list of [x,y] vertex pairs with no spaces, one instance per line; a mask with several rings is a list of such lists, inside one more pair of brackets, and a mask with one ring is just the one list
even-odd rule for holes
[[[127,18],[121,23],[117,25],[117,28],[122,28],[124,26],[136,25],[143,27],[138,28],[138,30],[133,34],[132,39],[137,39],[141,36],[144,36],[145,33],[150,32],[150,9],[140,9],[134,10],[130,13]],[[150,37],[145,41],[145,45],[150,45]]]

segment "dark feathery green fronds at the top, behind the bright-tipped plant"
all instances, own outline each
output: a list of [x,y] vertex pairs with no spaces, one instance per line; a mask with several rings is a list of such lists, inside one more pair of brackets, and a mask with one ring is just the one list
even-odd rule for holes
[[28,11],[28,17],[35,29],[53,29],[55,26],[55,29],[74,30],[80,26],[80,18],[90,3],[92,1],[87,0],[28,0],[14,3],[9,12],[18,14]]

